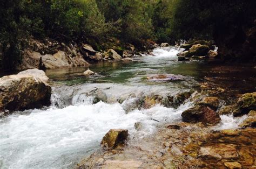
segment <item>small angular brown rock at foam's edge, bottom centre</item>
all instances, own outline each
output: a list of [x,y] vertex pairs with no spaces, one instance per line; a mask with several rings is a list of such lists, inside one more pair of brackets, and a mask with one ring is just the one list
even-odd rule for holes
[[102,142],[100,143],[103,147],[107,149],[115,149],[122,147],[125,144],[125,140],[128,137],[128,130],[124,129],[111,129],[103,137]]

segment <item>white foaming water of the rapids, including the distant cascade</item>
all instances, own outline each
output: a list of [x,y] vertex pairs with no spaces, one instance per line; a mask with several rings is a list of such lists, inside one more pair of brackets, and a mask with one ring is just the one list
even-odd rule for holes
[[[159,66],[166,64],[166,61],[177,60],[178,52],[179,48],[157,48],[153,51],[154,57],[143,56],[143,61],[157,63]],[[143,68],[146,69],[146,66]],[[122,93],[122,87],[126,90],[125,86],[116,85],[115,91],[115,84],[109,85],[113,86],[110,91],[112,94]],[[90,84],[82,87],[89,86]],[[130,88],[136,88],[134,91],[139,92],[138,90],[153,90],[157,87],[139,87],[133,84],[133,88]],[[161,88],[164,87],[160,86],[159,89]],[[127,93],[130,92],[128,89],[129,87]],[[58,96],[52,97],[55,102]],[[158,122],[151,118],[160,122],[179,121],[181,112],[191,107],[191,103],[187,102],[178,109],[156,105],[150,109],[126,112],[124,108],[130,105],[133,98],[128,98],[122,104],[92,104],[92,99],[93,97],[87,96],[81,101],[74,95],[72,104],[64,108],[52,105],[40,110],[16,112],[0,119],[0,168],[72,168],[85,154],[99,148],[100,140],[110,129],[128,129],[130,135],[143,137],[156,129]],[[136,122],[142,122],[142,131],[134,129]],[[229,124],[227,128],[233,126]]]

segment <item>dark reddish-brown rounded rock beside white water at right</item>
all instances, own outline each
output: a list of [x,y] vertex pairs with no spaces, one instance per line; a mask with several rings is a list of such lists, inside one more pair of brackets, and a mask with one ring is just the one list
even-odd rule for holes
[[188,109],[184,111],[181,116],[183,117],[183,121],[190,123],[203,122],[217,124],[220,122],[220,117],[217,112],[205,105]]

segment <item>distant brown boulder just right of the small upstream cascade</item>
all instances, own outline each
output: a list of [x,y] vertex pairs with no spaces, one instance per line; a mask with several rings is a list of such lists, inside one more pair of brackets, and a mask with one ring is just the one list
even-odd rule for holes
[[185,54],[185,57],[192,57],[194,56],[205,56],[207,55],[210,48],[206,45],[193,45],[190,50]]

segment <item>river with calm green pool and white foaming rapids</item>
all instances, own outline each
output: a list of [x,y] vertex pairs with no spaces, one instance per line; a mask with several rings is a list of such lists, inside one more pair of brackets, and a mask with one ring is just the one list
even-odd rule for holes
[[[181,112],[193,103],[187,101],[177,109],[159,104],[149,109],[136,107],[141,96],[188,91],[209,75],[205,62],[178,62],[179,51],[179,47],[156,48],[153,55],[137,56],[134,62],[93,64],[90,69],[98,75],[91,77],[82,75],[87,68],[46,71],[53,90],[52,105],[0,119],[0,167],[72,168],[100,148],[100,140],[110,129],[128,129],[131,137],[139,139],[153,133],[159,122],[181,121]],[[152,74],[176,74],[183,79],[145,79]],[[236,74],[238,82],[250,80],[250,74]],[[253,86],[250,89],[254,90]],[[95,93],[105,102],[93,103]],[[221,118],[221,129],[235,128],[241,121],[231,116]],[[136,122],[143,124],[143,130],[134,129]]]

